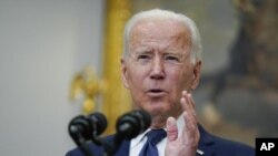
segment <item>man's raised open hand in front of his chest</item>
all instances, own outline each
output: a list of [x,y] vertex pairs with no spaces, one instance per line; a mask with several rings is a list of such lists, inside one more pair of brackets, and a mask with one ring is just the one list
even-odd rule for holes
[[180,98],[182,105],[182,117],[185,119],[185,127],[178,137],[178,127],[176,119],[169,117],[167,119],[167,144],[166,156],[196,156],[200,134],[198,131],[198,122],[195,111],[195,102],[190,93],[182,92]]

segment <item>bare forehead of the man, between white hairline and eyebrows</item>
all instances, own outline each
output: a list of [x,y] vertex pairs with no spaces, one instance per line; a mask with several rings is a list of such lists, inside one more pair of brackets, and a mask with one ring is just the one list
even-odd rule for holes
[[181,21],[170,19],[145,19],[131,29],[130,45],[157,43],[160,45],[189,45],[190,32]]

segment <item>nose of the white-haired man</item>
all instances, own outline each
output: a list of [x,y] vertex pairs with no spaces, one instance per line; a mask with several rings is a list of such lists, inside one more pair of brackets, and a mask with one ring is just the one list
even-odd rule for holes
[[150,79],[162,80],[165,79],[165,65],[163,61],[160,58],[155,58],[151,64],[151,74]]

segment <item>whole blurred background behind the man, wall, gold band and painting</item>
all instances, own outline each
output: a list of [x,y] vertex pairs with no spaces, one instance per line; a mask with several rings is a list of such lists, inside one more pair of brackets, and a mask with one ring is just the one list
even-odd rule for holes
[[255,146],[278,136],[276,0],[1,0],[0,154],[64,155],[69,121],[103,112],[113,132],[130,100],[120,82],[126,20],[161,8],[193,19],[202,77],[193,93],[205,127]]

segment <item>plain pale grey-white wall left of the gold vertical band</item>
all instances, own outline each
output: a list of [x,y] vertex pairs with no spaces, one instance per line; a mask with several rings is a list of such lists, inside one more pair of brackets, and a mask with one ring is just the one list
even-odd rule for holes
[[61,156],[73,74],[100,67],[103,0],[0,1],[0,155]]

